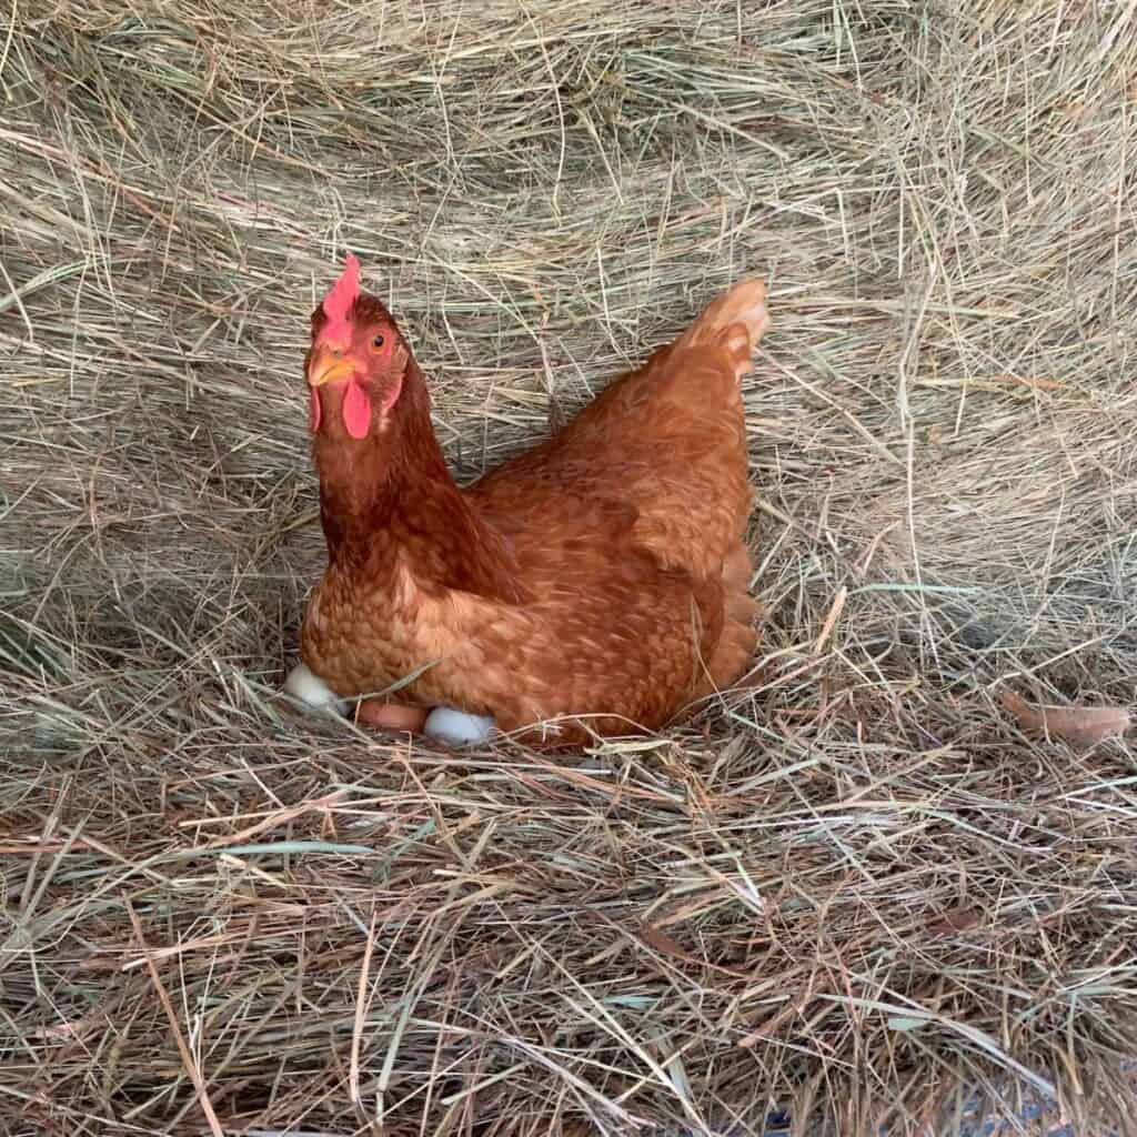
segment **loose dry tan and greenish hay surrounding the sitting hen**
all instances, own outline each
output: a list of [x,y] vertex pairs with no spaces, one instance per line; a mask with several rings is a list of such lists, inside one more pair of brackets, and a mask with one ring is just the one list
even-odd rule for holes
[[[8,1128],[1131,1128],[1131,739],[1001,699],[1135,700],[1132,5],[56,0],[0,44]],[[769,275],[761,691],[557,761],[274,702],[346,248],[463,478]]]

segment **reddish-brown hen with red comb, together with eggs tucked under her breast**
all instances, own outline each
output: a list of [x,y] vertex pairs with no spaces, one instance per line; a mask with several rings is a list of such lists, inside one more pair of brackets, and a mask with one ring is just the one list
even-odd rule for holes
[[735,684],[757,641],[739,380],[766,322],[763,282],[737,284],[459,489],[410,347],[349,256],[305,359],[329,563],[287,689],[397,689],[362,717],[564,746],[656,730]]

